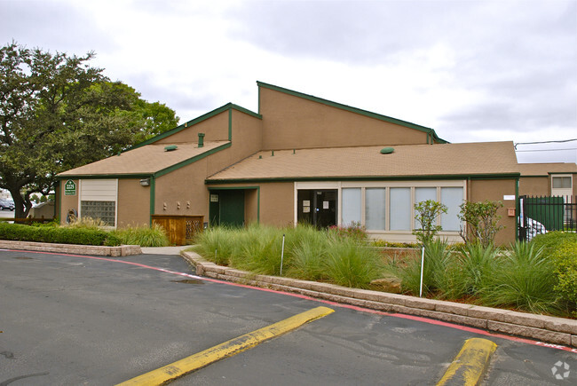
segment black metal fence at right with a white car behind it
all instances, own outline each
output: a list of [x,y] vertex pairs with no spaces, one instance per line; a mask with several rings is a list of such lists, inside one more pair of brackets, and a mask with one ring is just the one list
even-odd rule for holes
[[519,196],[519,240],[551,231],[577,232],[577,196]]

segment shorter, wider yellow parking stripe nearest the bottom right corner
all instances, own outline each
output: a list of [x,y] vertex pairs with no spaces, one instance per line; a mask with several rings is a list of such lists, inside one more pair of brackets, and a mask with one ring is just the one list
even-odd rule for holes
[[437,386],[458,384],[473,386],[480,382],[497,345],[489,340],[472,338],[465,341],[461,351],[447,368]]

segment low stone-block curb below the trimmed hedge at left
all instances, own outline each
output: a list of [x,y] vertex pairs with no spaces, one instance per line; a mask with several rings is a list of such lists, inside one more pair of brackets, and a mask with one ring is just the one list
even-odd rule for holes
[[140,255],[142,253],[139,245],[99,247],[94,245],[51,244],[45,242],[10,240],[0,240],[0,248],[112,257]]

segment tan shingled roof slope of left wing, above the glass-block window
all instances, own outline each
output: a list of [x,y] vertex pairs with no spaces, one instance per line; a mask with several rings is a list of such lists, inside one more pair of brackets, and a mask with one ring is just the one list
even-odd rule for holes
[[166,151],[167,144],[146,145],[113,155],[104,160],[89,163],[79,168],[62,172],[58,177],[103,177],[103,176],[162,176],[171,169],[184,166],[218,150],[231,146],[228,141],[197,144],[178,144],[176,150]]

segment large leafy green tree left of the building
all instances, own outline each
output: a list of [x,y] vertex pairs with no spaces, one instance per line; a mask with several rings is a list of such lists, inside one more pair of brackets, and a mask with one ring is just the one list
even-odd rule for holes
[[0,48],[0,187],[12,193],[17,218],[28,216],[31,194],[51,192],[59,172],[178,124],[169,107],[91,67],[93,57]]

